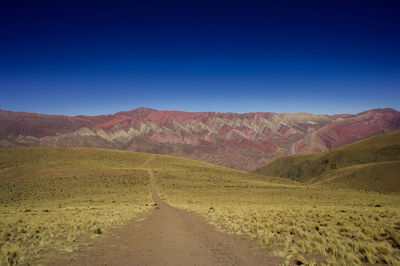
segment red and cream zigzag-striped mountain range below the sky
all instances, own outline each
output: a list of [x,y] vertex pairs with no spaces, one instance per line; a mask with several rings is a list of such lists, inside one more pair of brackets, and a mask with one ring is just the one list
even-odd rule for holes
[[175,155],[252,171],[282,156],[334,149],[400,129],[400,112],[218,113],[138,108],[102,116],[0,110],[0,147],[62,146]]

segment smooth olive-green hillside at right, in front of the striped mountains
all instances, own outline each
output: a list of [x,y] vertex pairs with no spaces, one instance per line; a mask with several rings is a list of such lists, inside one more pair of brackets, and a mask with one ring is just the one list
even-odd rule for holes
[[326,152],[279,158],[255,172],[326,187],[400,192],[400,130]]

